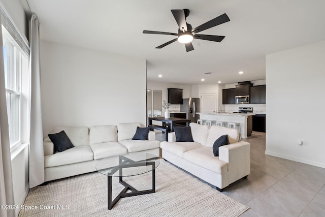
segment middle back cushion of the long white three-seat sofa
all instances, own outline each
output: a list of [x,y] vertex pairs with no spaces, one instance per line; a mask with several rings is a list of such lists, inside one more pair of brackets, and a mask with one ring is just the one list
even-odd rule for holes
[[117,127],[115,125],[92,126],[89,130],[89,144],[101,142],[117,142]]

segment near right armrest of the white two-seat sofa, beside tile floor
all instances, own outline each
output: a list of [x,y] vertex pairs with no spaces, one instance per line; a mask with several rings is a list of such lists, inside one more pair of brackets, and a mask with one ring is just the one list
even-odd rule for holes
[[234,175],[250,174],[250,143],[240,141],[219,147],[219,160],[227,162],[228,170]]

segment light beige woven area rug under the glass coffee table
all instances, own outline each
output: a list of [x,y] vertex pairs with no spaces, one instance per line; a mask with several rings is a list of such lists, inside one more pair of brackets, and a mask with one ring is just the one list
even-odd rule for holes
[[[138,190],[150,189],[151,174],[123,180]],[[113,197],[122,189],[118,178],[113,178]],[[107,176],[98,172],[59,179],[32,188],[24,206],[26,209],[19,213],[21,217],[238,216],[249,209],[163,159],[156,168],[155,193],[121,198],[111,210],[107,209]]]

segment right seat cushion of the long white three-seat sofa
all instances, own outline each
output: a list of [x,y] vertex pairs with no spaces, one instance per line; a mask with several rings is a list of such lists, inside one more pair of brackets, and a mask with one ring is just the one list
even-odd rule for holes
[[127,139],[120,141],[120,143],[127,148],[128,152],[149,150],[153,148],[159,148],[160,146],[160,142],[157,140],[149,141]]

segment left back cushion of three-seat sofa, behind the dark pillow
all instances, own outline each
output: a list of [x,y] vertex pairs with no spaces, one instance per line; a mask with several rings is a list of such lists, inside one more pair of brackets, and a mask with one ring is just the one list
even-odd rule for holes
[[89,129],[87,127],[56,127],[50,133],[66,132],[74,146],[89,145]]

